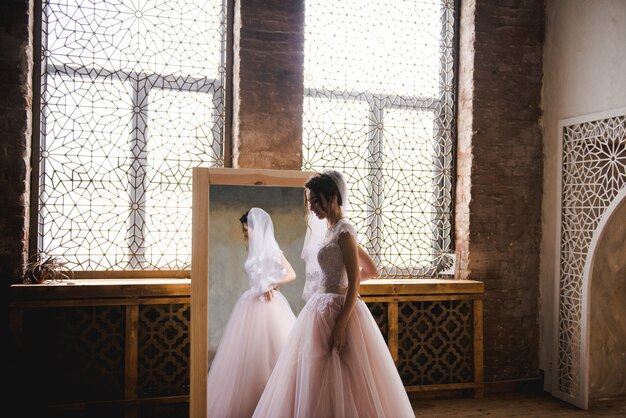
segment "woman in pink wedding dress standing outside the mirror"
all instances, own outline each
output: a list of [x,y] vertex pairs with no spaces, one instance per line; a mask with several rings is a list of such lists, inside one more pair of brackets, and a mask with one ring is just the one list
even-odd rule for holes
[[385,340],[358,294],[360,281],[377,271],[344,217],[343,175],[315,174],[305,194],[310,211],[325,220],[312,220],[305,238],[307,302],[253,417],[414,417]]

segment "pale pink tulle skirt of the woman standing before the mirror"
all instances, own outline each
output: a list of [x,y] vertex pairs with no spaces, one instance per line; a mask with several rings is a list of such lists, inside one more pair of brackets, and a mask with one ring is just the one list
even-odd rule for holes
[[313,295],[296,320],[254,418],[407,418],[413,408],[372,314],[358,299],[342,354],[329,339],[344,297]]

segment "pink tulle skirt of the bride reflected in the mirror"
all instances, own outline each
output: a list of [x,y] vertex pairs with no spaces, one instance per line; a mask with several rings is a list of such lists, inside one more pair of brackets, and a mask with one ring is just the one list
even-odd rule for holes
[[237,301],[209,369],[209,418],[250,418],[296,318],[287,299]]

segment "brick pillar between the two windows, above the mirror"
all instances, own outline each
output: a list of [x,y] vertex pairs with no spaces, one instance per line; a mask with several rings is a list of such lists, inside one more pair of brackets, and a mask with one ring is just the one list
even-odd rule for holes
[[299,170],[304,0],[241,3],[234,24],[233,167]]

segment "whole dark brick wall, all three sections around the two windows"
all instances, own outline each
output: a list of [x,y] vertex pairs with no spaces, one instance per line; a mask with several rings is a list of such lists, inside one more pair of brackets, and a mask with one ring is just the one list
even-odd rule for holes
[[[32,0],[31,0],[32,1]],[[298,169],[304,0],[246,1],[235,17],[233,166]],[[28,0],[0,13],[0,274],[27,249],[31,120]],[[468,15],[475,9],[475,16]],[[483,280],[485,380],[533,377],[538,356],[543,0],[466,0],[461,39],[457,247]],[[475,29],[475,31],[474,31]],[[6,286],[2,287],[6,295]]]

